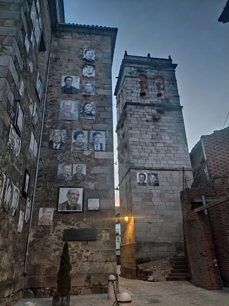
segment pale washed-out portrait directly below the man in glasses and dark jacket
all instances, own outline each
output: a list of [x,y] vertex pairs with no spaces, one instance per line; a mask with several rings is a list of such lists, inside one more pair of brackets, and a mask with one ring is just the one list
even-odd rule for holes
[[78,101],[61,100],[59,120],[78,120]]

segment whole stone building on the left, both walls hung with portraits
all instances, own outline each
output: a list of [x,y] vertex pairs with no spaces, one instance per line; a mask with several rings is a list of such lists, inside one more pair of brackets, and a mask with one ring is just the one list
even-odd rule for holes
[[[37,296],[54,289],[63,230],[69,228],[81,230],[84,239],[87,229],[94,231],[95,240],[69,241],[73,290],[83,293],[88,274],[92,283],[105,285],[107,273],[116,271],[110,217],[115,216],[111,64],[117,29],[65,24],[62,0],[7,0],[0,6],[0,304],[14,303],[28,288]],[[83,59],[85,49],[95,50],[95,61]],[[62,93],[63,75],[78,77],[77,94]],[[93,95],[82,94],[87,80]],[[64,101],[73,103],[73,120],[61,119]],[[86,101],[92,105],[90,119],[80,114]],[[66,131],[65,149],[49,148],[50,130]],[[88,132],[85,150],[71,149],[72,131]],[[92,131],[100,132],[98,151],[90,149]],[[75,165],[73,180],[58,179],[59,164]],[[85,165],[81,174],[76,165]],[[63,201],[69,189],[78,188],[80,211],[58,212],[59,187]],[[97,199],[90,200],[91,211],[89,198]]]

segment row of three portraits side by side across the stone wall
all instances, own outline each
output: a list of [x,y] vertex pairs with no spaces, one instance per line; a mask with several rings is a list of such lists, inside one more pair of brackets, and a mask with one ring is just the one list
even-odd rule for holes
[[[66,130],[50,130],[48,147],[65,149]],[[88,150],[88,131],[72,131],[72,150]],[[105,132],[90,131],[89,149],[105,151]]]

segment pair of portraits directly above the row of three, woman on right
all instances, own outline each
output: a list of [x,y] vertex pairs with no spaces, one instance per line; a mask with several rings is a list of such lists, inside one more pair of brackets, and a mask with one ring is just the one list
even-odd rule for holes
[[[61,100],[59,110],[59,120],[78,120],[78,101]],[[83,102],[80,111],[81,119],[95,119],[95,104],[93,102]]]

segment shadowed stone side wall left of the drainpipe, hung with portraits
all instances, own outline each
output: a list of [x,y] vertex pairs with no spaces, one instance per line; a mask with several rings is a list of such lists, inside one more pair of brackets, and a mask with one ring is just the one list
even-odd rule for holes
[[[39,146],[51,36],[47,1],[40,0],[38,3],[40,4],[40,10],[38,10],[36,4],[34,9],[38,19],[39,16],[41,17],[42,29],[45,29],[43,32],[45,50],[43,51],[39,50],[41,31],[34,47],[31,42],[31,33],[34,32],[31,19],[32,1],[0,1],[0,171],[6,175],[0,207],[0,304],[13,304],[22,296],[24,286],[24,258],[29,220],[26,218],[26,221],[23,221],[21,233],[18,232],[18,223],[20,212],[24,213],[25,217],[27,199],[32,200],[34,192],[37,154],[33,154],[29,147],[31,133],[33,133]],[[26,34],[28,50],[25,47]],[[30,63],[33,63],[33,70]],[[43,84],[41,102],[38,100],[35,89],[38,70]],[[24,112],[21,136],[19,133],[13,133],[13,135],[16,135],[16,142],[20,144],[19,151],[17,146],[12,145],[11,148],[8,145],[11,124],[14,123],[18,101]],[[31,108],[30,101],[32,101]],[[38,120],[34,126],[32,115],[35,103],[38,108]],[[23,195],[25,169],[31,174],[27,196]],[[13,210],[11,210],[10,205],[4,205],[8,179],[14,184],[15,190],[16,188],[19,190],[19,200],[14,216],[12,216]]]

